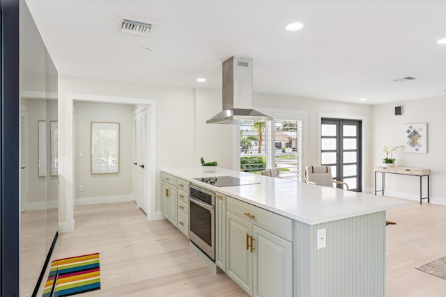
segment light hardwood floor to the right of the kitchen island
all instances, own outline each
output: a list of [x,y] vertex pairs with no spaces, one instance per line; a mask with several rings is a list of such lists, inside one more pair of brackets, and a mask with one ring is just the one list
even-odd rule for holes
[[387,211],[387,220],[397,225],[386,228],[386,296],[446,296],[446,280],[415,269],[446,255],[446,207],[410,202]]

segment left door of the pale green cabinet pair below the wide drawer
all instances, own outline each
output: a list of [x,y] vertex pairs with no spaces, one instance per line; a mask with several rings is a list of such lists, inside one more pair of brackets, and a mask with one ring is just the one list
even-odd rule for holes
[[226,274],[252,296],[252,254],[247,248],[252,223],[226,214]]

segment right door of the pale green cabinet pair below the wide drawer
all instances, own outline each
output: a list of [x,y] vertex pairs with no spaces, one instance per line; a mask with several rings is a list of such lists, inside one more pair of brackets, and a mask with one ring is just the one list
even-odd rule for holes
[[293,245],[260,227],[254,237],[254,296],[293,296]]

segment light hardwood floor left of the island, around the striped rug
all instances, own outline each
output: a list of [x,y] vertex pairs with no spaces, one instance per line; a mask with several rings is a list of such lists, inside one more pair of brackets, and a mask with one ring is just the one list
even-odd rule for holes
[[149,222],[134,202],[77,206],[75,221],[52,258],[100,252],[101,289],[82,296],[246,296],[168,220]]

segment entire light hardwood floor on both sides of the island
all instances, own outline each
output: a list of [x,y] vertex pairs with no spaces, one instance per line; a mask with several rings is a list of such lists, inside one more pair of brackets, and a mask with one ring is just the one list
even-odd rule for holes
[[[386,228],[386,296],[446,296],[446,280],[415,269],[446,255],[446,207],[408,202],[387,219],[397,225]],[[75,220],[52,259],[100,252],[102,289],[82,296],[246,296],[213,274],[169,221],[147,221],[133,202],[78,206]]]

